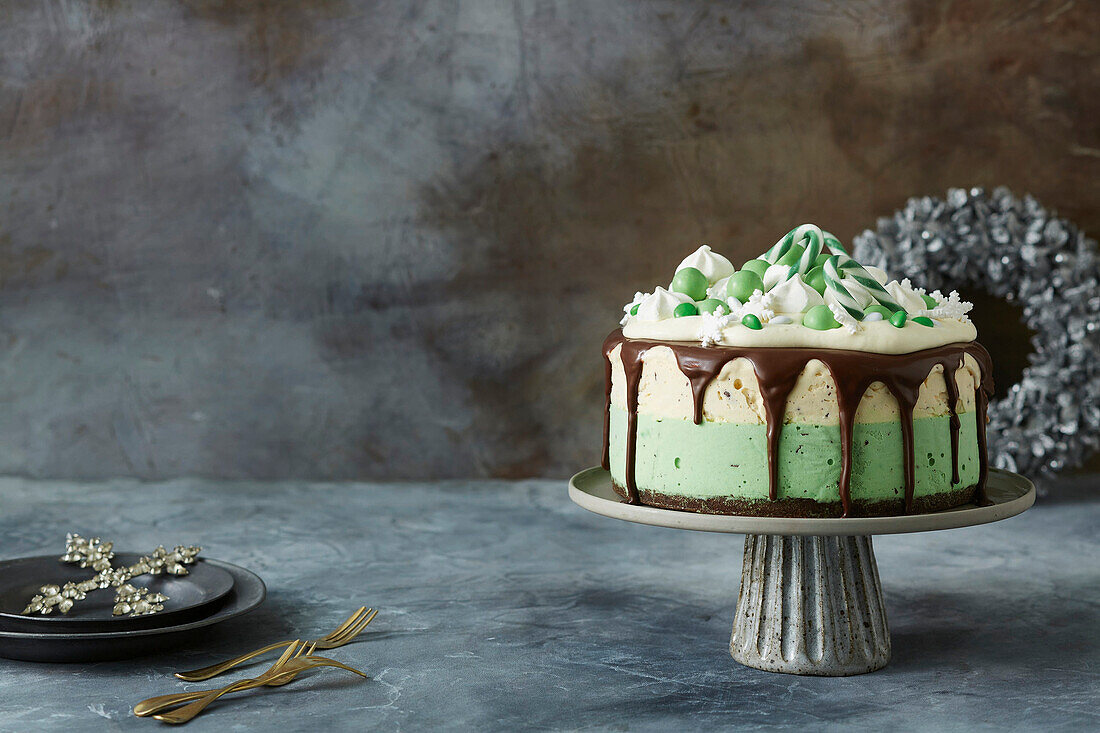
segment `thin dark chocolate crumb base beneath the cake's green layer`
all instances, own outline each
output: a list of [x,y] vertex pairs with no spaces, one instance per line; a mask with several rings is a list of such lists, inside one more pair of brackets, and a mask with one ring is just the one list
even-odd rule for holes
[[[612,481],[615,493],[627,499],[628,494],[617,481]],[[913,500],[914,514],[930,514],[961,506],[974,501],[977,486],[960,486],[932,496],[916,496]],[[776,501],[759,499],[733,499],[714,496],[712,499],[695,499],[676,496],[639,489],[638,499],[646,506],[695,512],[696,514],[737,514],[740,516],[783,516],[783,517],[839,517],[844,506],[839,499],[835,502],[817,502],[812,499],[779,499]],[[905,514],[905,500],[899,496],[894,500],[869,502],[855,500],[851,502],[849,516],[901,516]]]

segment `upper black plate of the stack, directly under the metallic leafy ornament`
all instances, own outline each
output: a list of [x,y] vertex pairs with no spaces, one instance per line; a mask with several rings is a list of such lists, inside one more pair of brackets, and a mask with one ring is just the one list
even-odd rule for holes
[[[116,565],[133,565],[141,556],[119,553],[114,557]],[[62,562],[56,555],[22,557],[0,562],[0,630],[75,633],[172,626],[197,621],[209,614],[213,610],[211,606],[233,588],[233,577],[230,573],[198,560],[186,576],[141,576],[132,581],[133,586],[144,586],[168,597],[164,611],[160,613],[116,616],[111,613],[114,608],[114,592],[111,589],[88,593],[88,598],[77,602],[68,613],[58,613],[56,610],[47,616],[24,616],[20,613],[41,586],[64,586],[69,581],[87,580],[91,575],[92,571],[88,568]]]

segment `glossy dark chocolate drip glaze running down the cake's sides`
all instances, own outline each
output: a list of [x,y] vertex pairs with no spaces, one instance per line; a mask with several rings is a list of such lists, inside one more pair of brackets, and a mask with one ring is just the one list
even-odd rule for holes
[[798,382],[799,375],[806,364],[816,359],[825,364],[836,384],[837,406],[840,427],[840,502],[844,505],[844,516],[851,510],[851,453],[853,436],[855,434],[856,412],[864,394],[875,382],[881,382],[890,390],[898,401],[901,413],[902,447],[905,473],[905,511],[913,511],[913,492],[915,489],[913,408],[920,394],[921,385],[932,370],[939,365],[944,370],[944,381],[947,384],[949,426],[952,431],[952,485],[959,483],[958,439],[959,417],[957,413],[958,383],[955,372],[963,365],[964,358],[969,354],[978,362],[981,371],[979,389],[976,390],[978,425],[978,503],[987,503],[986,477],[988,473],[986,452],[986,407],[993,392],[992,362],[989,352],[978,343],[950,343],[935,349],[925,349],[913,353],[883,354],[862,351],[844,351],[839,349],[802,349],[802,348],[765,348],[765,347],[702,347],[683,341],[651,341],[645,339],[628,339],[617,330],[604,341],[604,359],[606,361],[607,403],[604,411],[604,461],[605,469],[610,469],[610,404],[612,404],[612,365],[610,354],[616,347],[622,347],[619,357],[626,374],[627,405],[627,440],[626,440],[626,490],[627,501],[639,503],[638,486],[635,482],[635,466],[637,462],[638,441],[638,384],[641,381],[642,360],[646,352],[654,347],[668,347],[675,354],[680,371],[691,384],[693,400],[693,419],[696,425],[703,420],[703,397],[706,386],[718,375],[722,368],[734,359],[748,359],[752,364],[763,398],[765,416],[768,435],[768,496],[771,501],[778,499],[779,491],[779,436],[783,427],[783,416],[787,400]]

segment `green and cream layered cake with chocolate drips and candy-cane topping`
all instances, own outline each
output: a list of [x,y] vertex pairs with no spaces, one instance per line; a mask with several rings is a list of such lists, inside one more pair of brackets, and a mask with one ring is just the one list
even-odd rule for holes
[[703,245],[604,343],[603,466],[626,501],[693,512],[981,502],[993,385],[970,308],[813,225],[740,270]]

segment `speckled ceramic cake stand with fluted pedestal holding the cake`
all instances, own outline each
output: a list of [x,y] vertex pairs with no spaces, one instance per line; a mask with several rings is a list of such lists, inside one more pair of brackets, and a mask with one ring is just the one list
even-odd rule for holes
[[990,469],[989,506],[933,514],[811,519],[695,514],[626,504],[602,468],[581,471],[569,496],[596,514],[674,529],[744,534],[741,590],[729,653],[749,667],[792,675],[861,675],[890,660],[871,535],[969,527],[1015,516],[1035,501],[1022,475]]

